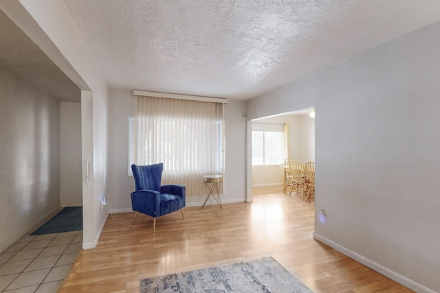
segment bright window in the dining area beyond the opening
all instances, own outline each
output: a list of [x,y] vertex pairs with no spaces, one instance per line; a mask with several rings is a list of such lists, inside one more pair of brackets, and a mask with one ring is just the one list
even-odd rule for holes
[[279,165],[284,157],[283,124],[252,124],[252,165]]

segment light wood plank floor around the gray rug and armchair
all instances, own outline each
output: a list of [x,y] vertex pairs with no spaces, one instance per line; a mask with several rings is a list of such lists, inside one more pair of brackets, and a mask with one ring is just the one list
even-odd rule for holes
[[115,214],[98,246],[84,250],[60,292],[139,292],[140,279],[274,257],[314,292],[412,292],[312,237],[314,196],[254,189],[254,202],[184,209],[157,219]]

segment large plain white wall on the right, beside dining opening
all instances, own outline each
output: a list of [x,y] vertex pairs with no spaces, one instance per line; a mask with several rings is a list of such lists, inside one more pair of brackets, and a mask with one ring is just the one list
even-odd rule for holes
[[315,106],[314,237],[417,292],[440,292],[439,31],[428,25],[247,108],[252,119]]

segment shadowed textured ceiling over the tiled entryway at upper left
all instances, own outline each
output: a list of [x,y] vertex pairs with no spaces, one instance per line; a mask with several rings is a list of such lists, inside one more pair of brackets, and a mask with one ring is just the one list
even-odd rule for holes
[[[80,102],[80,89],[0,10],[0,65],[63,102]],[[0,89],[1,90],[1,89]]]

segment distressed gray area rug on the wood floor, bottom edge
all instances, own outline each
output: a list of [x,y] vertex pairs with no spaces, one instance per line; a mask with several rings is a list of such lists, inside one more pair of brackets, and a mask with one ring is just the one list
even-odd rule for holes
[[140,292],[313,293],[273,257],[142,279]]

